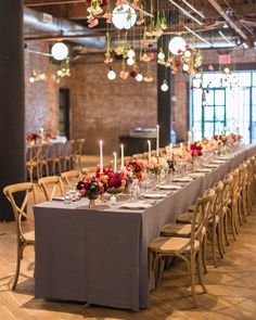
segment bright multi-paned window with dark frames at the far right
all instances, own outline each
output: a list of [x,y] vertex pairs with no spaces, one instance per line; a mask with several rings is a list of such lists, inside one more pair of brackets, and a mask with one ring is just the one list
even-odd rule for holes
[[256,142],[256,72],[204,73],[192,79],[190,126],[194,139],[223,131]]

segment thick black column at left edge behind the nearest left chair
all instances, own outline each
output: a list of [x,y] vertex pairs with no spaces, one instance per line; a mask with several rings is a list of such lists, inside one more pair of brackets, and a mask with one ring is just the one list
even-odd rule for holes
[[25,181],[23,1],[0,1],[0,220],[14,219],[2,189]]

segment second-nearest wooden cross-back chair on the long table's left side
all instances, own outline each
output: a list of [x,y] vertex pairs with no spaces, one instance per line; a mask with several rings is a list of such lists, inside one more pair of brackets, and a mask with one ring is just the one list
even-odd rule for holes
[[[38,180],[38,185],[41,188],[46,200],[51,201],[55,195],[63,195],[63,184],[61,177],[50,176]],[[56,194],[59,190],[59,194]]]

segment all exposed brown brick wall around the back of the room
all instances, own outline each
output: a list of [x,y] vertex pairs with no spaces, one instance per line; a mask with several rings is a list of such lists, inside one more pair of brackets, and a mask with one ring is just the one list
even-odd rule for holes
[[[47,43],[30,43],[29,48],[48,52]],[[221,52],[221,51],[220,51]],[[223,51],[225,52],[225,51]],[[204,64],[216,64],[216,50],[203,51]],[[31,59],[33,56],[33,59]],[[98,141],[104,140],[104,152],[118,150],[118,137],[129,133],[135,126],[154,127],[157,118],[156,80],[151,84],[135,84],[135,79],[118,78],[120,63],[113,68],[117,78],[106,78],[107,68],[102,63],[103,54],[88,54],[86,62],[72,66],[72,77],[59,85],[42,81],[30,85],[28,78],[33,67],[41,65],[44,73],[49,61],[30,53],[25,54],[26,65],[26,130],[37,131],[40,127],[57,132],[59,88],[71,90],[71,138],[86,138],[85,153],[98,153]],[[256,50],[231,51],[233,63],[256,61]],[[156,79],[156,65],[152,64]],[[54,66],[53,66],[54,68]],[[184,87],[180,84],[184,84]],[[178,141],[187,139],[189,119],[189,76],[184,73],[174,76],[172,102],[174,129]]]

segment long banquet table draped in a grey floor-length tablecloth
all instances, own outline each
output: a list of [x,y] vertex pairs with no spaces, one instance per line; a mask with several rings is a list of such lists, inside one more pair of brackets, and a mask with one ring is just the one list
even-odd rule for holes
[[36,205],[35,296],[139,310],[149,307],[148,244],[207,188],[248,156],[249,145],[225,164],[143,210],[89,209],[52,201]]

